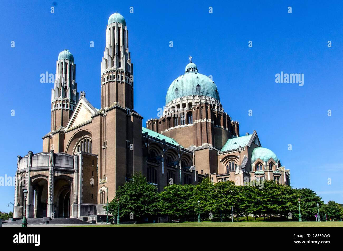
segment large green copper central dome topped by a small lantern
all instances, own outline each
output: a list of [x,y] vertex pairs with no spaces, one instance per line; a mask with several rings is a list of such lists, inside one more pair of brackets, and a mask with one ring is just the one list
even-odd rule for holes
[[217,86],[208,77],[198,72],[198,67],[194,63],[186,66],[185,74],[174,80],[167,91],[166,105],[177,98],[185,96],[208,96],[219,99]]

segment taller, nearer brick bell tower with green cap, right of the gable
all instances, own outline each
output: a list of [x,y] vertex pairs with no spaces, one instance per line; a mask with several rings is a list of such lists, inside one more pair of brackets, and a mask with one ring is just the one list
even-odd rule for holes
[[[129,181],[135,172],[142,172],[143,117],[133,109],[128,35],[124,17],[117,12],[112,14],[101,63],[101,109],[92,116],[96,151],[92,153],[98,155],[98,187],[108,192],[109,200],[116,195],[118,186]],[[98,215],[104,214],[101,203],[98,196]]]

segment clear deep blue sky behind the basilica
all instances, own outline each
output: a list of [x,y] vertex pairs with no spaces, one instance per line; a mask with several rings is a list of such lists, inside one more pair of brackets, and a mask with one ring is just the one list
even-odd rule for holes
[[[42,151],[53,84],[40,83],[40,74],[55,73],[60,51],[74,55],[78,91],[100,107],[105,29],[118,11],[129,29],[134,107],[144,125],[191,55],[200,73],[213,76],[241,135],[256,130],[291,169],[293,187],[343,203],[341,1],[56,1],[55,13],[52,1],[0,3],[0,176],[15,175],[17,155]],[[304,85],[275,83],[282,71],[304,74]],[[14,187],[0,186],[0,194],[0,211],[8,212]]]

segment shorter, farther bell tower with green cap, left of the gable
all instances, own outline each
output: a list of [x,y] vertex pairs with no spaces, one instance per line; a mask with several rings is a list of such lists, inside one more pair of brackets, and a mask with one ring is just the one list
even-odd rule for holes
[[54,88],[51,89],[51,133],[66,127],[78,103],[74,57],[69,50],[59,53]]

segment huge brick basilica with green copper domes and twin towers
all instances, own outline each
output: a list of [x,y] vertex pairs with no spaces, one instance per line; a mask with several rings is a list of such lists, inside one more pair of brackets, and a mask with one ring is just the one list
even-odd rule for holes
[[133,104],[127,28],[119,13],[109,17],[99,108],[78,92],[72,53],[59,53],[43,151],[17,159],[14,218],[23,215],[27,189],[28,218],[103,221],[107,200],[136,172],[158,191],[204,178],[237,185],[246,179],[290,184],[289,170],[262,147],[256,131],[240,135],[239,122],[224,111],[217,86],[191,57],[184,72],[176,70],[175,75],[182,75],[170,84],[160,116],[142,127],[143,117]]

